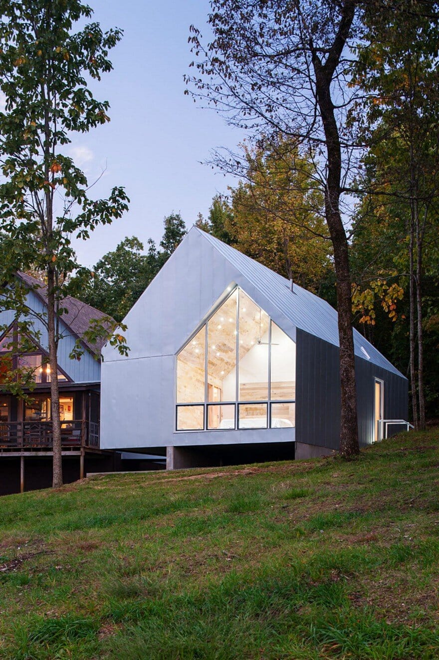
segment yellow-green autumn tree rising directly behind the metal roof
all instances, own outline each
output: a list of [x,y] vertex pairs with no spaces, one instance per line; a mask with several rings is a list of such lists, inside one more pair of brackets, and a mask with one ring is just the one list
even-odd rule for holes
[[[233,244],[283,277],[317,291],[332,271],[324,197],[312,163],[289,141],[247,149],[247,176],[230,189]],[[283,157],[280,157],[280,154]]]

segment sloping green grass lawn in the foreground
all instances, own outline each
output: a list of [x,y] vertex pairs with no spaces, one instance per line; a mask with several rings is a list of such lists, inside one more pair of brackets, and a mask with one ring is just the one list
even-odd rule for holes
[[1,659],[439,657],[439,430],[0,499]]

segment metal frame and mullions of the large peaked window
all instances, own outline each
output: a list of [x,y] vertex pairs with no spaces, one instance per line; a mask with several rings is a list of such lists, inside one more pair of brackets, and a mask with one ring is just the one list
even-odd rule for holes
[[[241,401],[239,399],[239,304],[240,304],[240,296],[239,292],[242,291],[247,298],[249,298],[256,306],[258,306],[261,310],[262,308],[260,305],[258,305],[257,302],[255,302],[251,296],[243,289],[241,288],[238,284],[235,285],[230,285],[227,287],[225,290],[224,294],[221,296],[220,300],[210,310],[210,312],[204,317],[204,320],[196,327],[196,329],[190,334],[189,338],[185,343],[179,348],[177,353],[175,354],[175,360],[174,360],[174,433],[215,433],[215,432],[224,432],[224,431],[249,431],[249,430],[272,430],[272,405],[273,404],[290,404],[293,403],[295,405],[296,399],[291,398],[291,399],[271,399],[271,390],[272,390],[272,323],[276,323],[270,316],[270,314],[267,314],[265,310],[263,310],[267,315],[268,315],[268,399],[260,399],[260,400],[254,400],[254,401]],[[208,323],[210,319],[220,310],[220,308],[225,304],[225,302],[233,296],[237,292],[237,311],[236,311],[236,362],[235,362],[235,401],[208,401]],[[278,323],[276,325],[279,327]],[[189,345],[189,343],[200,333],[200,330],[204,327],[204,401],[194,401],[193,403],[177,403],[177,393],[178,393],[178,383],[177,383],[177,372],[178,372],[178,358],[179,354]],[[281,330],[285,335],[285,333],[281,327],[279,327],[279,330]],[[289,335],[287,335],[289,337]],[[295,346],[295,350],[297,349],[297,344],[296,342],[289,337],[289,339],[293,342]],[[295,363],[295,366],[297,366],[297,362]],[[296,372],[294,374],[296,376]],[[296,381],[295,381],[296,382]],[[239,407],[240,405],[266,405],[267,409],[267,423],[266,426],[261,426],[259,428],[239,428]],[[218,406],[218,405],[233,405],[235,409],[235,426],[233,428],[208,428],[208,414],[209,414],[209,407],[210,406]],[[203,428],[201,429],[179,429],[177,426],[177,420],[178,420],[178,409],[179,407],[187,407],[187,406],[203,406],[204,411],[203,411],[203,417],[204,417],[204,424]],[[277,429],[279,427],[276,427]],[[295,428],[294,426],[287,427],[285,428]]]

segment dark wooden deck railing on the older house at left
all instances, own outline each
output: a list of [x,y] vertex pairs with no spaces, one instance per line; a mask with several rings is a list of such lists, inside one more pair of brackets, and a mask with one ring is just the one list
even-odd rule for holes
[[[71,420],[61,422],[63,449],[99,447],[99,424]],[[11,449],[32,451],[51,450],[53,447],[52,422],[0,422],[0,452]]]

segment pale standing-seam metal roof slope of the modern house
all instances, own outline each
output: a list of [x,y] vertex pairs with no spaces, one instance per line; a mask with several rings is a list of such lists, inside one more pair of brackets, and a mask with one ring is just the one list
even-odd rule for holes
[[[339,347],[338,316],[336,310],[326,300],[294,284],[291,293],[290,283],[278,273],[254,261],[247,255],[231,248],[227,244],[203,232],[198,227],[191,231],[199,232],[229,263],[231,263],[253,286],[268,298],[281,314],[285,315],[295,327],[319,337],[328,343]],[[379,350],[355,328],[353,330],[355,355],[367,362],[376,364],[401,378],[401,372],[393,366]]]

